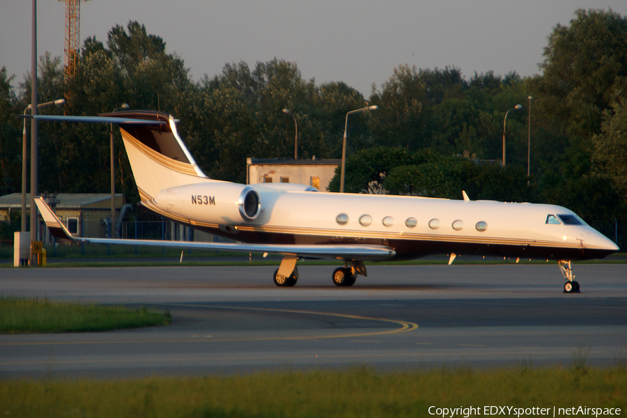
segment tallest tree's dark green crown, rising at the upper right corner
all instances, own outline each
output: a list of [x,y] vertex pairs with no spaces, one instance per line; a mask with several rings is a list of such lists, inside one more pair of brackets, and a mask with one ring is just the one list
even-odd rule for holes
[[545,107],[573,140],[590,150],[612,92],[627,76],[627,19],[612,10],[577,10],[557,24],[544,50],[539,90]]

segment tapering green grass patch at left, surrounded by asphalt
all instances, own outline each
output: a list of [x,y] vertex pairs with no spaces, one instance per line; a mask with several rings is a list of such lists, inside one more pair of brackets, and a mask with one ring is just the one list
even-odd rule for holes
[[0,297],[1,333],[107,331],[169,323],[167,311]]

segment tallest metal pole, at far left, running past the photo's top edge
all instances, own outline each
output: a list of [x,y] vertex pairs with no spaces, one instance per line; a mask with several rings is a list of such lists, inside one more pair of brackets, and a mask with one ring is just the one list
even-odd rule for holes
[[[37,114],[37,0],[33,0],[31,16],[31,115]],[[31,119],[31,243],[37,240],[37,120]],[[36,265],[31,245],[31,265]]]

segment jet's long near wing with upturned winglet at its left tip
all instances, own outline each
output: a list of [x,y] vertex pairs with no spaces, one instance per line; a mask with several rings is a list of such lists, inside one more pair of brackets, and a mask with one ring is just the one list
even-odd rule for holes
[[263,252],[272,254],[291,254],[302,258],[336,258],[348,260],[385,260],[392,258],[396,252],[385,245],[290,245],[290,244],[245,244],[242,242],[193,242],[193,241],[160,241],[160,240],[123,240],[113,238],[80,238],[72,235],[61,219],[56,217],[52,209],[42,197],[35,198],[35,203],[55,238],[93,242],[95,244],[146,245],[150,247],[172,247],[183,249],[216,249],[226,251]]

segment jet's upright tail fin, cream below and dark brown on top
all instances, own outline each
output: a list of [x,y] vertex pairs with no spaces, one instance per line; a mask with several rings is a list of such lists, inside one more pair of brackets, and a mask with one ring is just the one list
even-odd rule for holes
[[[99,116],[138,119],[137,124],[120,125],[120,131],[141,201],[150,201],[168,187],[208,179],[178,136],[173,116],[160,111],[137,110]],[[149,125],[146,120],[166,123]]]

